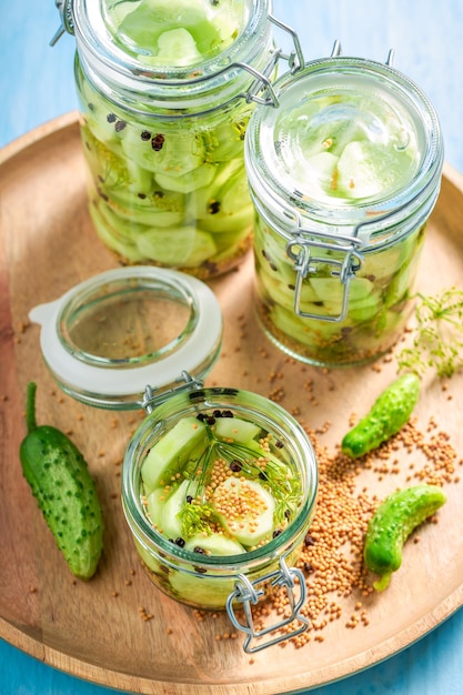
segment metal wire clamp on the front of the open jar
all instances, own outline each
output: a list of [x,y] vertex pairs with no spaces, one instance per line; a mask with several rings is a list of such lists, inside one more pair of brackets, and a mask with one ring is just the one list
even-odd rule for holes
[[[262,588],[256,587],[259,585],[269,583],[271,586],[285,587],[289,600],[290,614],[286,617],[278,621],[276,623],[264,627],[263,629],[256,629],[252,616],[251,604],[256,605],[259,600],[265,595],[265,592]],[[298,598],[294,595],[294,588],[296,584],[299,586]],[[301,614],[301,608],[305,603],[305,598],[306,586],[304,575],[302,574],[301,570],[298,570],[296,567],[292,567],[291,570],[289,570],[284,557],[280,558],[279,570],[270,572],[265,576],[260,577],[254,582],[250,582],[246,576],[240,574],[238,576],[238,582],[235,584],[234,591],[228,597],[227,612],[234,627],[246,634],[243,644],[244,652],[246,652],[246,654],[253,654],[254,652],[260,652],[261,649],[265,649],[266,647],[270,647],[274,644],[285,642],[286,639],[295,637],[296,635],[305,632],[310,625],[309,618]],[[241,623],[235,615],[233,607],[234,601],[238,601],[242,604],[245,620],[244,624]],[[273,637],[270,637],[261,644],[251,644],[252,639],[260,639],[271,633],[275,633],[292,623],[293,621],[296,621],[296,626],[293,629],[289,632],[285,631],[283,634],[275,634]]]

